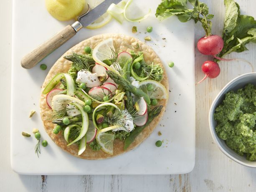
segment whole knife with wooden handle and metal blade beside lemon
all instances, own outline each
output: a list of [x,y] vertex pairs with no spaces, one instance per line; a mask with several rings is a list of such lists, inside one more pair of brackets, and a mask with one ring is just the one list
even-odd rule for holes
[[30,69],[39,63],[43,58],[52,53],[56,48],[66,43],[83,27],[90,25],[101,15],[106,13],[109,6],[114,3],[117,4],[121,0],[104,0],[96,8],[90,10],[88,13],[81,15],[78,21],[72,25],[67,25],[63,30],[54,35],[51,39],[47,40],[43,44],[39,45],[32,52],[28,53],[22,58],[20,64],[23,68]]

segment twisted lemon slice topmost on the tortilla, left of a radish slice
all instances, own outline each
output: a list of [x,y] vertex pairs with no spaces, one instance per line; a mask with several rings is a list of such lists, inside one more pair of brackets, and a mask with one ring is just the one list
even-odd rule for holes
[[112,58],[113,50],[115,50],[113,38],[103,40],[98,45],[96,45],[96,47],[92,51],[92,58],[96,63],[99,63],[100,65],[106,67],[109,71],[118,73],[116,70],[114,70],[114,68],[108,66],[106,63],[103,62],[106,59]]

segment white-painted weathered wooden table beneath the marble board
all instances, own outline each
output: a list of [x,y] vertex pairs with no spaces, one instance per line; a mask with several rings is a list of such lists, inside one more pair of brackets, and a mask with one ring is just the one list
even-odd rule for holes
[[[160,1],[160,0],[159,0]],[[213,33],[221,35],[224,18],[223,0],[202,0],[210,7]],[[255,0],[237,0],[241,13],[256,18]],[[10,64],[11,64],[11,1],[0,5],[0,191],[93,191],[93,192],[205,192],[205,191],[256,191],[256,169],[243,167],[226,157],[213,143],[208,128],[208,111],[217,93],[236,76],[251,72],[246,63],[221,62],[221,74],[196,86],[196,159],[191,173],[182,175],[101,175],[101,176],[26,176],[10,168]],[[200,24],[196,25],[195,41],[203,36]],[[232,58],[246,58],[256,68],[256,45],[250,51],[232,54]],[[195,51],[195,79],[203,78],[201,64],[208,60]],[[17,63],[17,67],[19,63]],[[25,86],[25,85],[24,85]],[[20,122],[22,124],[22,122]],[[40,165],[38,165],[40,166]]]

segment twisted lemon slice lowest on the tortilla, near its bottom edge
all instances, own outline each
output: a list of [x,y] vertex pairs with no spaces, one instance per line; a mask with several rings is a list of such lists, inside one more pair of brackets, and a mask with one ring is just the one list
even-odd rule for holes
[[104,151],[107,154],[113,155],[113,141],[114,141],[114,134],[106,133],[107,131],[117,129],[118,126],[110,126],[101,130],[98,130],[96,135],[96,140],[99,143],[102,151]]

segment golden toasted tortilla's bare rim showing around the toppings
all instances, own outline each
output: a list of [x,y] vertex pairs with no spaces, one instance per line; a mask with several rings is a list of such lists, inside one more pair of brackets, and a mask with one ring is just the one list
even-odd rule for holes
[[[144,60],[146,62],[154,62],[154,64],[160,64],[162,68],[164,69],[163,79],[161,83],[165,86],[167,90],[169,90],[169,83],[167,74],[165,71],[164,66],[161,63],[160,58],[157,56],[155,51],[153,51],[150,46],[148,46],[146,43],[143,43],[139,41],[137,38],[130,37],[123,34],[101,34],[101,35],[95,35],[89,39],[86,39],[82,41],[81,43],[75,45],[70,50],[68,50],[66,53],[63,54],[63,56],[72,54],[72,51],[78,54],[84,54],[84,47],[90,46],[92,49],[100,43],[102,40],[106,40],[108,38],[113,38],[114,43],[117,47],[119,47],[119,51],[127,51],[130,52],[131,50],[134,50],[135,53],[138,51],[142,51],[144,54]],[[138,43],[139,48],[135,49],[132,45],[132,43]],[[46,76],[45,81],[43,82],[42,90],[41,90],[41,99],[40,99],[40,109],[41,109],[41,119],[43,121],[44,128],[47,132],[47,134],[51,137],[51,139],[64,151],[70,153],[71,155],[74,155],[75,157],[79,157],[82,159],[106,159],[110,157],[117,156],[119,154],[122,154],[124,152],[127,152],[134,147],[137,147],[144,139],[146,139],[152,131],[157,126],[158,122],[162,118],[162,115],[165,111],[165,106],[167,104],[166,99],[162,99],[158,102],[159,105],[163,105],[161,113],[155,117],[155,119],[143,129],[143,131],[136,137],[136,139],[133,141],[133,143],[129,146],[129,148],[124,151],[124,141],[120,141],[119,139],[114,140],[114,154],[109,155],[103,152],[102,150],[99,151],[93,151],[89,144],[86,146],[86,151],[78,155],[78,145],[73,144],[71,146],[67,147],[67,142],[64,140],[63,134],[53,134],[53,128],[56,126],[49,120],[49,115],[51,115],[52,110],[49,109],[48,105],[46,104],[46,95],[42,93],[43,89],[46,87],[47,83],[51,81],[51,79],[57,74],[57,73],[67,73],[69,68],[71,67],[72,62],[66,60],[61,56],[61,58],[56,61],[56,63],[52,66],[51,70],[49,71],[48,75]]]

